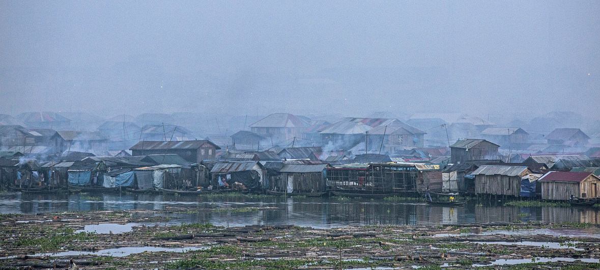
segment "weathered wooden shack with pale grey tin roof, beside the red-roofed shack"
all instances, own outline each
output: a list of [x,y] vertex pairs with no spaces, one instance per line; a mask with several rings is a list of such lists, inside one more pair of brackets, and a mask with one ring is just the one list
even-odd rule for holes
[[521,178],[532,173],[526,166],[485,165],[476,169],[475,194],[519,197]]

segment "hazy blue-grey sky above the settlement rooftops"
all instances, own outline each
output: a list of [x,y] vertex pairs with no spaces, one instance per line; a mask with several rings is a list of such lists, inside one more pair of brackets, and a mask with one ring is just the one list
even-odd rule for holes
[[598,116],[600,1],[0,1],[0,113]]

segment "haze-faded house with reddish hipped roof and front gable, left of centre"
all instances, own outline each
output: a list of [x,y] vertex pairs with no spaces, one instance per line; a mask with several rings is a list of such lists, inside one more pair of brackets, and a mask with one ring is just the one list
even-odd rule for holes
[[290,113],[273,113],[250,125],[251,131],[265,137],[271,145],[279,145],[288,140],[302,138],[302,133],[310,127],[309,121]]

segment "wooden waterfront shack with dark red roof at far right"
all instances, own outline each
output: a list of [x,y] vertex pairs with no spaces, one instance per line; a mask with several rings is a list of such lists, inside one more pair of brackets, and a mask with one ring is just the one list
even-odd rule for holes
[[538,181],[542,200],[568,200],[571,195],[595,198],[600,193],[600,178],[591,172],[548,172]]

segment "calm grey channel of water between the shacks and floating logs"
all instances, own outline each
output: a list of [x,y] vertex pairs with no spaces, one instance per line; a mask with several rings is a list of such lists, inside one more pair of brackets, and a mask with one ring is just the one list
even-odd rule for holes
[[[271,207],[249,212],[214,212],[210,209]],[[208,222],[220,226],[247,224],[295,224],[330,228],[373,224],[468,224],[490,222],[540,221],[542,223],[600,224],[600,211],[585,208],[476,206],[430,206],[383,199],[347,199],[313,197],[194,197],[167,194],[20,194],[0,193],[1,213],[38,214],[63,211],[104,211],[127,209],[186,208],[172,214],[170,224]],[[521,214],[526,213],[526,214]],[[548,229],[548,234],[553,231]],[[113,231],[113,233],[117,233]],[[484,232],[485,233],[485,232]],[[520,231],[517,233],[526,233]],[[532,233],[541,233],[536,230]],[[564,235],[569,232],[556,232]],[[581,233],[575,230],[572,233]],[[571,234],[571,233],[569,233]],[[583,232],[584,236],[600,232]],[[582,235],[582,236],[583,236]]]

